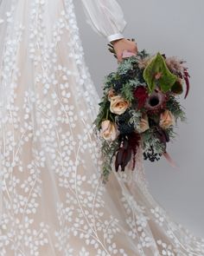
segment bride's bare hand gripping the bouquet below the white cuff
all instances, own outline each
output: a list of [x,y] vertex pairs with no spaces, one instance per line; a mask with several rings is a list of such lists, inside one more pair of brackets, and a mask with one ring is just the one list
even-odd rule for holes
[[136,42],[132,42],[132,41],[129,41],[129,40],[123,38],[123,39],[113,41],[112,45],[115,49],[115,52],[116,52],[116,55],[118,58],[118,62],[122,62],[124,50],[127,50],[127,51],[137,55],[138,50],[137,50]]

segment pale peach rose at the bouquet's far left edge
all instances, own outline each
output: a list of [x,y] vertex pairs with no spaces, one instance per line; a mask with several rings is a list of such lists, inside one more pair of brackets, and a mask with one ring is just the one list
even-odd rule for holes
[[115,141],[118,137],[118,129],[112,121],[105,120],[101,123],[100,134],[105,141]]

